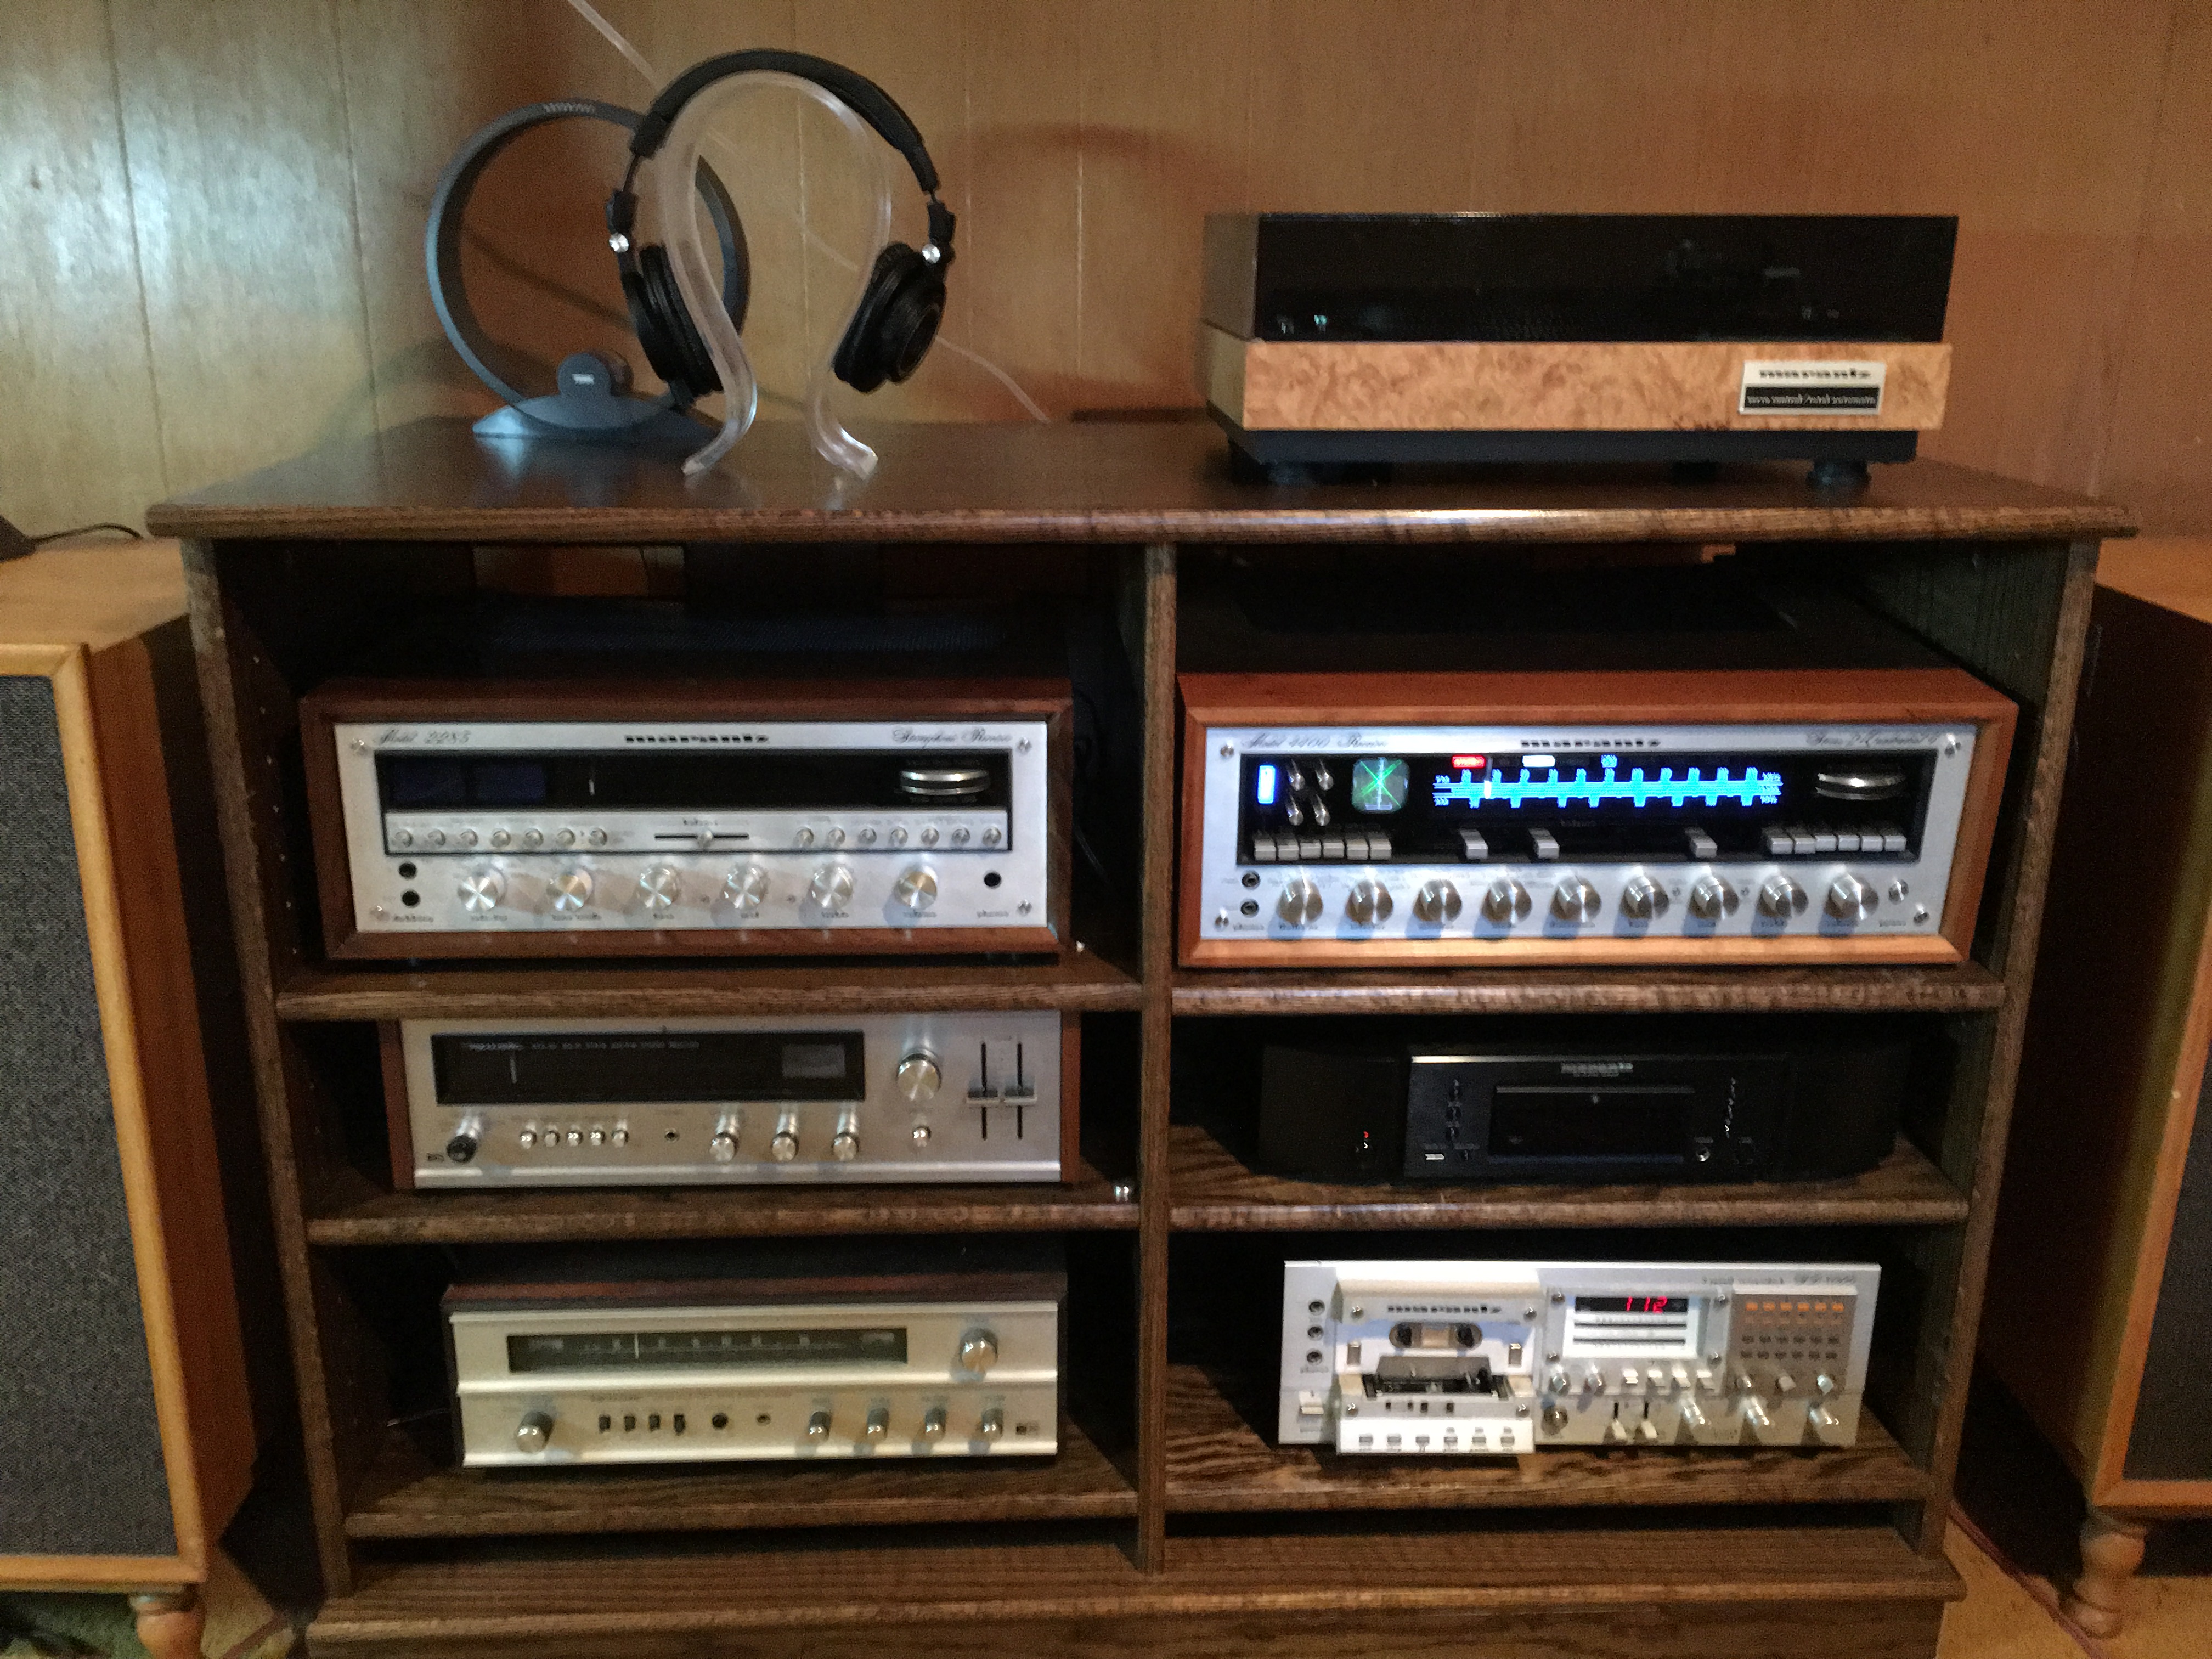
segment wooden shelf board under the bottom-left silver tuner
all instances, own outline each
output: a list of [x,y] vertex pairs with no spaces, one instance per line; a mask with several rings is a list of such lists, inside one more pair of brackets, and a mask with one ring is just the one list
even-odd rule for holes
[[349,1537],[518,1537],[763,1526],[1113,1520],[1137,1489],[1073,1418],[1057,1458],[883,1458],[619,1469],[451,1469],[392,1431]]

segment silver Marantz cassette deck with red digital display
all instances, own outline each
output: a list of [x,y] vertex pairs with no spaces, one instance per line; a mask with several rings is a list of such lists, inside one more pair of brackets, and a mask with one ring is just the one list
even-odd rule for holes
[[1880,1267],[1283,1263],[1283,1444],[1849,1447]]

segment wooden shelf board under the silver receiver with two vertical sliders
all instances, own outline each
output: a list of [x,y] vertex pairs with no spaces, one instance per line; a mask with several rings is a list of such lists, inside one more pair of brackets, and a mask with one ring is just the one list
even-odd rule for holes
[[681,1186],[385,1192],[352,1177],[307,1217],[316,1245],[765,1239],[841,1232],[1119,1232],[1135,1197],[1084,1164],[1064,1186]]

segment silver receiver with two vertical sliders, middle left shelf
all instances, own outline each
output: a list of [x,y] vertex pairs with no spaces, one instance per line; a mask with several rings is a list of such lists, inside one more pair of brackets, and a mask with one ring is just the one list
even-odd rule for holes
[[403,1020],[400,1186],[1060,1181],[1077,1018]]

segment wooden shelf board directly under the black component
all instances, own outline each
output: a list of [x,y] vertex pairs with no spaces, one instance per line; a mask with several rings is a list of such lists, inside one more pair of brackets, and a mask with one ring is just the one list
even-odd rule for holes
[[1212,1128],[1168,1130],[1168,1221],[1181,1232],[1387,1228],[1767,1228],[1966,1219],[1966,1194],[1920,1148],[1843,1181],[1743,1186],[1329,1186],[1259,1175]]

